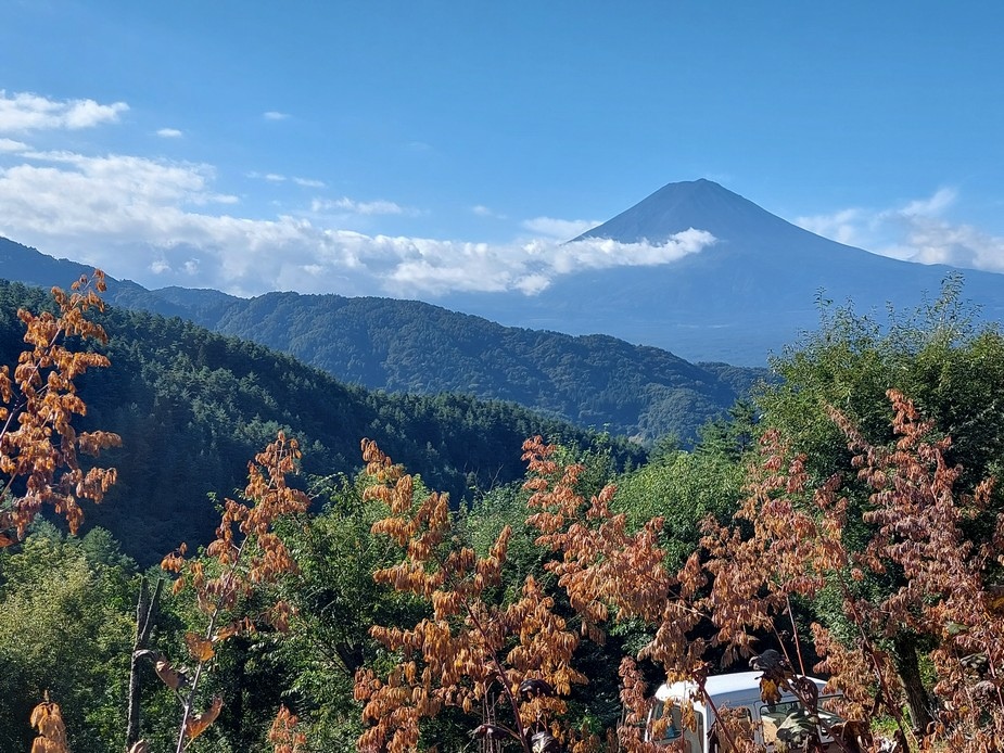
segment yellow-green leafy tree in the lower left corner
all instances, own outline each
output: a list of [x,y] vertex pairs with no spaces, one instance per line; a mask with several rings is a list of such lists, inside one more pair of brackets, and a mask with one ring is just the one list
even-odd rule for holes
[[45,524],[0,553],[0,749],[28,750],[31,709],[59,701],[71,750],[125,736],[136,569],[96,529],[82,540]]

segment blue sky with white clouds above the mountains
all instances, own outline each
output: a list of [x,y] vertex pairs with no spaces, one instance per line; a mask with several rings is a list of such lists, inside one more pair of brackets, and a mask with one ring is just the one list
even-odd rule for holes
[[3,16],[0,234],[150,288],[532,292],[575,269],[557,243],[701,177],[869,251],[1004,271],[1002,3]]

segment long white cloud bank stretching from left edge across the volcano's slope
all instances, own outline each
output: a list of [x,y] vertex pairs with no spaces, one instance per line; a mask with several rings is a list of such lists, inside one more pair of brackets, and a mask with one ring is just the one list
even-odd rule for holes
[[[236,199],[215,192],[213,181],[213,168],[202,164],[30,152],[23,164],[0,168],[0,234],[150,286],[212,286],[238,295],[534,294],[561,275],[669,264],[714,240],[697,230],[660,245],[367,235],[317,218],[224,214],[219,205]],[[333,203],[355,210],[366,206],[348,199]],[[397,206],[383,204],[383,210]]]

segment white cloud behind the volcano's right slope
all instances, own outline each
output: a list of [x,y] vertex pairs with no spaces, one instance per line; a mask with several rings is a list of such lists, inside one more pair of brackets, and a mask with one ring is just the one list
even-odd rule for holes
[[812,232],[882,256],[1004,271],[1004,238],[944,218],[957,199],[955,189],[942,188],[930,196],[889,208],[850,207],[795,221]]

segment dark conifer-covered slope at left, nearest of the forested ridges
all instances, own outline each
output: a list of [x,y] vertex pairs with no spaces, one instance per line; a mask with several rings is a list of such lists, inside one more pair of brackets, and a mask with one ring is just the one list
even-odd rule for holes
[[[0,358],[24,349],[18,308],[39,310],[48,295],[0,281]],[[284,430],[304,448],[307,474],[353,474],[359,442],[376,439],[455,503],[471,489],[521,477],[522,442],[535,434],[588,446],[620,462],[644,452],[501,401],[462,395],[414,396],[346,385],[296,359],[178,318],[109,308],[96,317],[110,335],[111,367],[87,373],[84,430],[119,434],[102,456],[118,469],[105,501],[86,514],[109,528],[138,561],[158,561],[181,541],[208,540],[221,499],[242,488],[247,462]]]

